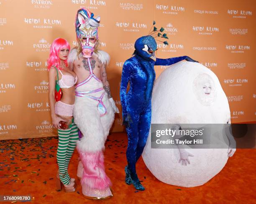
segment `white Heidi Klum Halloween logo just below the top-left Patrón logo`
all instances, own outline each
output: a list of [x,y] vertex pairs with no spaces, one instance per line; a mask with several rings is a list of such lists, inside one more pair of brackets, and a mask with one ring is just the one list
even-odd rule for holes
[[51,29],[55,25],[61,25],[61,20],[50,18],[24,18],[24,22],[33,25],[33,28]]

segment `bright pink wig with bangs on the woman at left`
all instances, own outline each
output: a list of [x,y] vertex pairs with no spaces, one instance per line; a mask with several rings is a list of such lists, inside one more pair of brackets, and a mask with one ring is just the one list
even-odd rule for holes
[[[67,42],[67,40],[63,38],[56,38],[54,42],[51,44],[50,55],[47,60],[48,70],[50,70],[52,66],[57,67],[58,70],[62,70],[62,68],[59,67],[59,51],[63,48],[67,48],[70,50],[70,45]],[[66,66],[68,66],[67,60],[64,60],[64,63]]]

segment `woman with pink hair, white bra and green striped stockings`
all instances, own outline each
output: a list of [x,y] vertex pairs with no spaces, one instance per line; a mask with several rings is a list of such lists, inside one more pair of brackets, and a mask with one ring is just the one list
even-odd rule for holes
[[[79,139],[77,125],[74,124],[73,119],[74,85],[77,82],[77,76],[68,68],[67,57],[69,50],[70,45],[67,40],[62,38],[55,39],[51,45],[50,56],[47,62],[51,119],[54,127],[58,128],[59,135],[57,149],[59,171],[56,180],[56,190],[60,191],[61,184],[63,184],[65,192],[74,192],[76,190],[75,179],[69,177],[68,166]],[[56,84],[59,85],[60,91]],[[60,92],[62,92],[62,95]]]

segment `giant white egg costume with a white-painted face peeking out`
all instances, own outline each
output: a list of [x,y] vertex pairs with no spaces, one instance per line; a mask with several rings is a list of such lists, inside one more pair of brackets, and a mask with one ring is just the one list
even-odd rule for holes
[[[225,124],[228,121],[228,100],[218,77],[200,63],[176,63],[155,81],[152,124]],[[142,157],[157,179],[181,187],[205,184],[228,160],[228,146],[223,149],[187,148],[186,151],[194,157],[189,157],[190,164],[182,166],[179,149],[151,149],[149,132]]]

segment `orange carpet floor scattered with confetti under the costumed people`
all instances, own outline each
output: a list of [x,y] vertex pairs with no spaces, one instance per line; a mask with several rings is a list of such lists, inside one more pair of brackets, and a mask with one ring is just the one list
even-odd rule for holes
[[[29,194],[34,197],[31,201],[34,204],[256,203],[255,149],[237,149],[218,175],[206,184],[192,188],[160,182],[140,158],[137,172],[146,190],[139,192],[124,182],[127,136],[125,133],[113,133],[105,145],[105,168],[113,182],[114,196],[100,201],[84,198],[78,181],[76,192],[55,191],[57,144],[57,137],[0,141],[0,195]],[[73,178],[77,178],[77,164],[78,153],[75,150],[69,167],[69,174]]]

